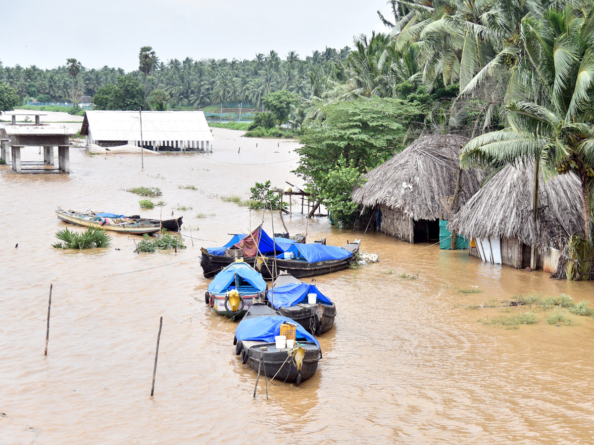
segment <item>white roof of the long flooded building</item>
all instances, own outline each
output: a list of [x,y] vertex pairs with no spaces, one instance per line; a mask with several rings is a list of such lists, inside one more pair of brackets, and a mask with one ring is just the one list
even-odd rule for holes
[[[136,111],[89,110],[81,134],[95,141],[140,141]],[[200,111],[143,112],[144,141],[213,141],[204,113]]]

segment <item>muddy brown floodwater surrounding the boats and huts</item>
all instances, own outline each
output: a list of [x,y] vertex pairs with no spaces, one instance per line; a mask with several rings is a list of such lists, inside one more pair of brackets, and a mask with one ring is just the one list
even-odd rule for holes
[[[233,354],[235,325],[204,305],[200,246],[220,245],[261,221],[261,212],[221,195],[247,197],[255,181],[299,182],[289,173],[295,142],[214,134],[213,155],[146,156],[144,171],[136,155],[90,157],[82,149],[72,150],[69,175],[0,168],[1,445],[594,443],[594,320],[513,330],[479,322],[504,308],[465,308],[533,291],[594,304],[592,283],[486,265],[466,251],[362,236],[295,214],[285,217],[291,233],[307,226],[309,239],[329,244],[361,237],[362,250],[381,261],[317,277],[338,310],[335,328],[320,338],[317,373],[299,387],[269,385],[269,400],[252,399],[255,373]],[[34,149],[27,156],[40,157]],[[92,252],[50,247],[65,227],[56,206],[137,213],[140,198],[124,189],[140,185],[163,190],[154,201],[168,203],[163,217],[184,215],[182,233],[192,233],[193,247],[188,238],[178,253],[135,255],[138,238],[121,235]],[[193,209],[175,211],[178,205]],[[143,213],[159,217],[160,209]],[[270,214],[264,221],[270,233]],[[275,231],[280,227],[275,215]],[[417,271],[416,280],[399,276]],[[472,286],[482,292],[457,290]]]

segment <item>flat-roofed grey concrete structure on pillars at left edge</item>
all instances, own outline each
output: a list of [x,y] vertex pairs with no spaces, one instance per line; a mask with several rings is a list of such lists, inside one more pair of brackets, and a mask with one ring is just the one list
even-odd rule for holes
[[[0,131],[0,158],[12,166],[17,173],[68,173],[70,171],[70,136],[74,132],[67,128],[36,125],[9,125]],[[22,147],[43,147],[43,161],[21,160]],[[58,147],[58,169],[53,166],[53,148]],[[24,169],[26,166],[44,168]]]

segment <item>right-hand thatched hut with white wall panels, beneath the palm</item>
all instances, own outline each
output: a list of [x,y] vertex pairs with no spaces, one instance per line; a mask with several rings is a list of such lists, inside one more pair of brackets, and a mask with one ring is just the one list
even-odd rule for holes
[[555,272],[569,237],[583,234],[580,181],[574,173],[539,179],[538,216],[533,214],[534,163],[507,166],[494,174],[448,222],[472,239],[469,254],[514,268],[530,266]]

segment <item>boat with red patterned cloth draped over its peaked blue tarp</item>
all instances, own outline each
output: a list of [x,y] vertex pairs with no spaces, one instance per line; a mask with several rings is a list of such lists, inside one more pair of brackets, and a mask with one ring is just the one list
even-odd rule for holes
[[252,233],[235,234],[223,246],[202,247],[200,250],[200,265],[205,278],[213,278],[222,271],[225,266],[232,263],[235,258],[242,257],[251,266],[255,266],[257,255],[270,256],[285,252],[293,243],[302,243],[305,237],[296,235],[295,239],[286,237],[274,237],[272,239],[260,226]]

